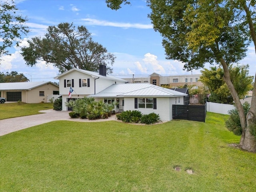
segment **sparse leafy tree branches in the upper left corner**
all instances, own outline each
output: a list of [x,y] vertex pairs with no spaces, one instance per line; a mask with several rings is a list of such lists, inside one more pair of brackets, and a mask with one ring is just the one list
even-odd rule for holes
[[26,17],[18,14],[13,0],[0,1],[0,37],[3,40],[0,44],[0,56],[8,54],[6,48],[11,47],[14,41],[19,45],[21,35],[29,32],[24,25],[26,21]]

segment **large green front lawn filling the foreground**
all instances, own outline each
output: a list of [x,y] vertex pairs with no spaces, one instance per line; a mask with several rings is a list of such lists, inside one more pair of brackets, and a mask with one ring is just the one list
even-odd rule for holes
[[0,191],[255,191],[256,154],[228,146],[240,137],[225,128],[227,117],[208,112],[206,123],[157,125],[55,121],[13,132],[0,137]]

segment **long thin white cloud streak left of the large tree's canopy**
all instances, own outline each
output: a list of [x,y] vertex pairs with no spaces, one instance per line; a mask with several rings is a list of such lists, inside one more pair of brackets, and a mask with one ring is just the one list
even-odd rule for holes
[[85,18],[82,19],[85,21],[86,25],[97,25],[97,26],[111,26],[111,27],[121,27],[121,28],[139,28],[139,29],[151,29],[153,28],[152,24],[138,24],[138,23],[122,23],[122,22],[110,22],[105,20],[97,20]]

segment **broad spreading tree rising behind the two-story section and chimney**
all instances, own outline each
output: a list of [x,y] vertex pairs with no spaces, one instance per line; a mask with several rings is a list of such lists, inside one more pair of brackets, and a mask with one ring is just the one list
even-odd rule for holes
[[28,66],[38,60],[52,63],[60,72],[79,68],[98,72],[99,65],[106,65],[107,73],[112,73],[115,56],[101,44],[94,42],[84,26],[60,23],[49,26],[44,38],[28,40],[28,47],[22,48],[22,56]]

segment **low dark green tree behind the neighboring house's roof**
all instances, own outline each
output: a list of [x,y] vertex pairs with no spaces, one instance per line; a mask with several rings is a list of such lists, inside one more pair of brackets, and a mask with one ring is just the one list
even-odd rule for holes
[[28,78],[24,76],[22,73],[18,74],[16,71],[6,72],[5,74],[0,72],[0,82],[8,83],[8,82],[28,82]]

